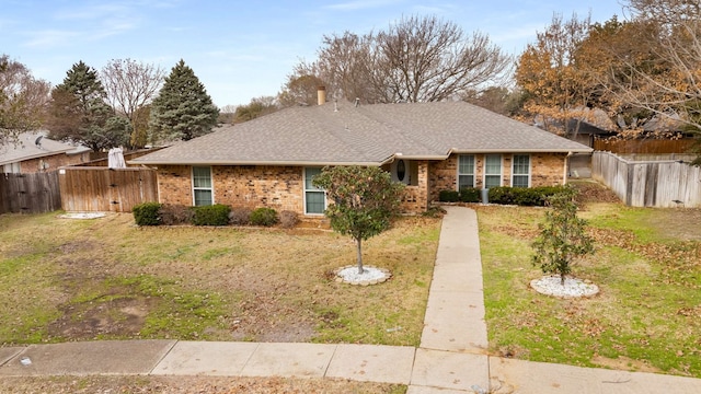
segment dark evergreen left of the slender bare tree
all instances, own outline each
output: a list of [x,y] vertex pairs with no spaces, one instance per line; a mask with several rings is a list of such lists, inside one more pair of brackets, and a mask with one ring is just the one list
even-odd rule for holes
[[80,142],[95,151],[126,144],[131,132],[107,104],[97,71],[82,61],[51,91],[47,128],[51,138]]

